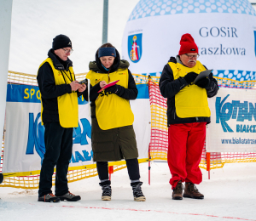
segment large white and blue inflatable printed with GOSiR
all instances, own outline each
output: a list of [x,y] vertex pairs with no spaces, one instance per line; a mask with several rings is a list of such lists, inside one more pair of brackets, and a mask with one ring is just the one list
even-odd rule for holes
[[122,58],[133,73],[160,76],[181,36],[190,33],[214,76],[254,80],[255,15],[247,0],[141,0],[125,26]]

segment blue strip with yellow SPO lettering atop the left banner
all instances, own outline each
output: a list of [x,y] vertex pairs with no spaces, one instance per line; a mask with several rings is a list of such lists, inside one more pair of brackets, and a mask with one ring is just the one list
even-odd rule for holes
[[[7,102],[41,103],[41,94],[38,86],[8,84]],[[79,98],[79,105],[86,105],[88,102],[83,96]]]

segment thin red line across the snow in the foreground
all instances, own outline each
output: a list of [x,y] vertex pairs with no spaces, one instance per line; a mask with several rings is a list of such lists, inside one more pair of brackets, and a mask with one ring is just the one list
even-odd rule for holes
[[123,210],[123,211],[135,211],[135,212],[161,212],[161,213],[171,213],[177,215],[191,215],[191,216],[203,216],[203,217],[212,217],[212,218],[233,218],[238,220],[247,220],[247,221],[256,221],[256,219],[248,218],[236,218],[236,217],[219,217],[214,215],[200,214],[200,213],[183,213],[183,212],[169,212],[169,211],[160,211],[160,210],[150,210],[150,209],[132,209],[132,208],[108,208],[108,207],[74,207],[74,206],[49,206],[49,207],[68,207],[68,208],[84,208],[84,209],[105,209],[105,210]]

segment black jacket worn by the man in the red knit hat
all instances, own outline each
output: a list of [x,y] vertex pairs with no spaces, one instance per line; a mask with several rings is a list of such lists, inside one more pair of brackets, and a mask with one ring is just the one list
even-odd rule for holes
[[[177,63],[177,59],[171,57],[168,62]],[[207,69],[207,67],[205,66]],[[208,98],[212,98],[218,93],[218,82],[212,77],[212,73],[209,76],[210,85],[207,89]],[[166,64],[159,82],[160,93],[164,98],[167,98],[167,124],[176,124],[176,123],[189,123],[189,122],[207,122],[210,123],[210,117],[188,117],[180,118],[177,116],[175,108],[175,95],[186,87],[188,83],[183,77],[177,78],[174,80],[172,68],[170,65]]]

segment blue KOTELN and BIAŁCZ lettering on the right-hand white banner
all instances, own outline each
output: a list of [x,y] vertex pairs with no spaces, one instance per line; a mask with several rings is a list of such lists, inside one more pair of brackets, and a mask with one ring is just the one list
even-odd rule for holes
[[[256,104],[248,101],[241,102],[240,100],[232,100],[232,102],[225,102],[230,94],[221,100],[221,97],[216,98],[216,123],[221,123],[224,132],[229,133],[256,133],[256,125],[249,122],[256,121]],[[230,119],[236,120],[236,128],[231,128],[228,122]],[[253,120],[254,119],[254,120]],[[237,123],[248,121],[247,124]]]

